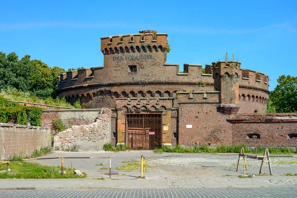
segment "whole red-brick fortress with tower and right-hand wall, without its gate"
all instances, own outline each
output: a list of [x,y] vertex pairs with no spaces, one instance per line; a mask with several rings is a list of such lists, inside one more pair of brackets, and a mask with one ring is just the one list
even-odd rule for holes
[[[127,144],[127,113],[156,112],[162,114],[166,145],[297,145],[296,119],[266,119],[267,75],[243,69],[238,61],[212,62],[205,74],[200,64],[184,64],[180,73],[178,64],[166,63],[166,49],[167,34],[156,31],[102,37],[103,67],[62,74],[59,97],[80,100],[89,109],[110,108],[112,145]],[[43,116],[49,117],[47,126],[47,119],[59,117]]]

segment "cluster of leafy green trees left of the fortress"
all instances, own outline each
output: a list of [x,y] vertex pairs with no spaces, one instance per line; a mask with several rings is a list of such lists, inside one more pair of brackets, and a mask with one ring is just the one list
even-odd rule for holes
[[16,88],[39,98],[56,98],[58,76],[65,70],[41,60],[31,60],[30,55],[19,59],[15,52],[0,51],[0,89]]

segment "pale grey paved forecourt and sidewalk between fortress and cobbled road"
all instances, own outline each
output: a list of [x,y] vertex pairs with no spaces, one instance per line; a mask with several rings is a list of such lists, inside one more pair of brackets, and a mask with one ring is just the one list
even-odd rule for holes
[[[140,170],[117,170],[127,161],[146,156],[147,172],[145,179],[137,178]],[[272,169],[274,176],[257,176],[260,161],[249,160],[247,174],[255,174],[253,178],[239,178],[243,174],[242,167],[236,172],[238,154],[201,154],[201,153],[162,153],[152,151],[124,152],[55,152],[50,156],[111,156],[112,172],[104,175],[109,167],[109,160],[99,159],[65,159],[65,166],[73,166],[88,174],[87,179],[0,179],[0,190],[79,190],[79,189],[180,189],[180,188],[257,188],[257,187],[297,187],[297,176],[280,176],[280,174],[296,173],[296,164],[278,164],[275,161]],[[105,161],[104,161],[105,160]],[[282,158],[284,160],[284,158]],[[292,158],[290,159],[292,160]],[[44,165],[58,165],[57,160],[34,161]],[[96,164],[102,163],[102,166]],[[117,168],[116,168],[117,167]],[[264,166],[263,172],[268,172]],[[105,178],[98,180],[98,178]]]

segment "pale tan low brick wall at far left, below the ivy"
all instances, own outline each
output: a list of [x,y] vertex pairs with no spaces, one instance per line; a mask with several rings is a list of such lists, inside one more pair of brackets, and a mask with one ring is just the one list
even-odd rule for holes
[[48,128],[0,123],[0,158],[30,155],[35,149],[48,146],[51,146]]

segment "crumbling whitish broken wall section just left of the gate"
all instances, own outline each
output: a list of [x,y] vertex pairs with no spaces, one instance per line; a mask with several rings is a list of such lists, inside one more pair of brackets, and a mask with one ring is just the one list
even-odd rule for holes
[[105,143],[111,143],[111,110],[102,109],[96,122],[72,126],[54,136],[56,150],[102,150]]

